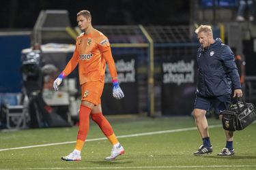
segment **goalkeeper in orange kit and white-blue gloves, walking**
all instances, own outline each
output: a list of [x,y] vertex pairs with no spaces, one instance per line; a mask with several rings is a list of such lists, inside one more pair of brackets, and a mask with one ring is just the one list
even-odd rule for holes
[[113,97],[122,99],[124,93],[117,82],[117,71],[111,54],[109,40],[100,31],[92,27],[89,11],[82,10],[79,12],[76,20],[83,33],[76,38],[76,48],[72,58],[53,83],[55,90],[58,90],[58,86],[63,78],[68,76],[77,64],[79,65],[79,82],[82,91],[79,111],[79,132],[74,151],[68,154],[68,156],[61,157],[61,159],[67,161],[81,160],[81,150],[89,130],[89,116],[91,114],[91,119],[100,126],[104,135],[113,145],[111,155],[106,157],[105,160],[113,160],[117,156],[124,154],[124,148],[117,140],[117,137],[115,137],[111,124],[102,115],[100,97],[104,88],[106,63],[109,66],[113,82]]

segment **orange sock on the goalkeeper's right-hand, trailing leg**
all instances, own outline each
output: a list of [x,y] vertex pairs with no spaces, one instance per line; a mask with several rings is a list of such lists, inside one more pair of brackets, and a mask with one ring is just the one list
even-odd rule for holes
[[96,122],[98,126],[100,126],[101,131],[109,139],[112,145],[115,145],[116,143],[118,143],[117,137],[115,137],[113,129],[109,124],[109,121],[106,120],[106,118],[102,115],[102,113],[91,114],[91,119],[94,120],[94,122]]

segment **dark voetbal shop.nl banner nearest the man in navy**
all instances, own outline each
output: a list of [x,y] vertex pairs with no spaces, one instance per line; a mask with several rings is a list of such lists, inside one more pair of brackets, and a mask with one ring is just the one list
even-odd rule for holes
[[190,115],[196,90],[195,58],[164,56],[162,58],[162,114]]

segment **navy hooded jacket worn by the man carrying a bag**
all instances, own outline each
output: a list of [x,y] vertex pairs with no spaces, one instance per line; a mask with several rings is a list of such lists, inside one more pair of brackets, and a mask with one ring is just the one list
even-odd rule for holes
[[199,48],[197,65],[197,95],[218,97],[231,95],[231,86],[241,89],[234,54],[221,39],[215,39],[208,49]]

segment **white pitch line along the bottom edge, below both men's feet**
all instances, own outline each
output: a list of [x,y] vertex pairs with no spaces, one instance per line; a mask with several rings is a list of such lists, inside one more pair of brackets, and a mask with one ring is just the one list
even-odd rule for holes
[[54,167],[54,168],[13,168],[0,170],[35,170],[35,169],[190,169],[190,168],[244,168],[256,167],[256,165],[191,165],[191,166],[152,166],[152,167]]

